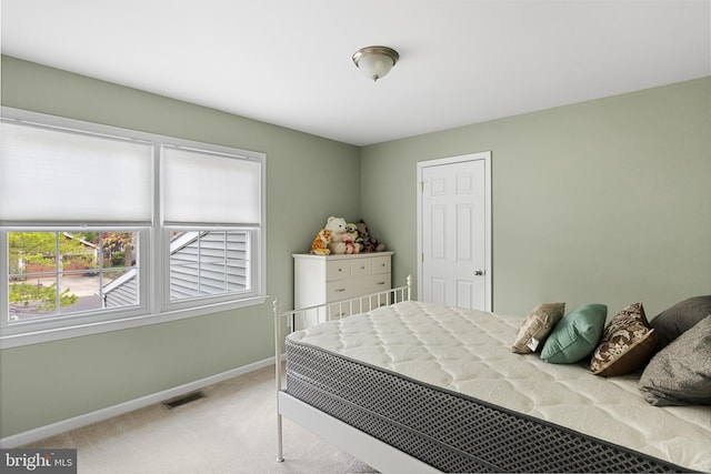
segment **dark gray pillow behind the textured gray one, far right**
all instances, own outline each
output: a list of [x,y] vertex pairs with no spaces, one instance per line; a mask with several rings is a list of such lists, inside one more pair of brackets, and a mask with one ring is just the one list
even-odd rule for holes
[[658,349],[662,349],[711,314],[711,294],[694,296],[662,311],[650,321],[650,326],[659,337]]

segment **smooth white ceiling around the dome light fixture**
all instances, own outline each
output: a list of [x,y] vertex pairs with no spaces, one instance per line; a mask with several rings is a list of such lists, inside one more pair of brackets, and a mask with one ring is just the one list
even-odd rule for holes
[[2,53],[364,145],[710,75],[710,3],[2,0]]

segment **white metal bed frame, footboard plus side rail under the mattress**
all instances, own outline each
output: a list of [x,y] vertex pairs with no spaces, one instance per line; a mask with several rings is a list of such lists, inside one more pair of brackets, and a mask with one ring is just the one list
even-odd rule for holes
[[[279,300],[273,303],[274,316],[274,367],[277,386],[277,461],[283,462],[282,416],[323,437],[356,458],[380,472],[439,472],[402,451],[370,436],[353,426],[330,416],[313,406],[289,395],[282,390],[282,367],[284,334],[282,326],[293,331],[297,322],[307,321],[309,314],[324,315],[327,321],[339,319],[342,314],[357,314],[382,305],[410,301],[412,279],[408,275],[404,286],[383,290],[363,296],[342,300],[299,310],[282,311]],[[284,324],[286,321],[286,324]]]

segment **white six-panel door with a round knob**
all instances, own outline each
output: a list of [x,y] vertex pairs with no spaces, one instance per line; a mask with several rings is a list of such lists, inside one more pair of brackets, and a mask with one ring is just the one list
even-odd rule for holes
[[421,301],[491,311],[490,159],[418,163]]

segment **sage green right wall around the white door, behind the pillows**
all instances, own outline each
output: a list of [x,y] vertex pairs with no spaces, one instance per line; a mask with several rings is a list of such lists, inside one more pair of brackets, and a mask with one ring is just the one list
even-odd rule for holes
[[711,78],[363,148],[361,209],[395,281],[417,274],[417,162],[487,150],[495,312],[651,317],[711,294]]

